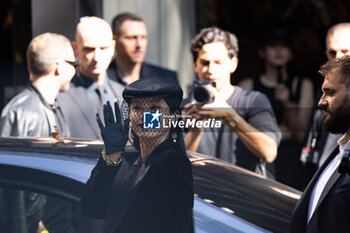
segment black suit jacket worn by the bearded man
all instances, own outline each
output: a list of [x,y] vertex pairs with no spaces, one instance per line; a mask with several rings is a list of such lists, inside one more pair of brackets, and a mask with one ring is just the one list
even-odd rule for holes
[[290,232],[350,232],[350,176],[336,170],[328,180],[316,209],[307,224],[309,200],[323,170],[337,155],[335,150],[317,171],[295,207]]

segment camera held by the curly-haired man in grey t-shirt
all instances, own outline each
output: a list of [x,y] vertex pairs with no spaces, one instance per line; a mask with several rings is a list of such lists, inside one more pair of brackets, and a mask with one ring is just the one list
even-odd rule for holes
[[209,91],[208,86],[215,87],[211,80],[195,80],[190,91],[191,103],[197,106],[209,104],[214,101],[214,94]]

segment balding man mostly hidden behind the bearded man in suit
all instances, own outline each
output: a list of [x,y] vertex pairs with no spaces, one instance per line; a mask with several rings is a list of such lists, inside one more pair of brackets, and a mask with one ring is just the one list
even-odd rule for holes
[[[330,27],[326,35],[326,56],[328,61],[335,61],[345,55],[350,55],[350,23],[338,23]],[[315,109],[322,95],[319,90],[315,100]],[[322,131],[324,110],[317,109],[311,116],[306,145],[301,153],[301,161],[305,165],[305,184],[312,178],[316,170],[326,161],[332,151],[338,146],[341,134]]]

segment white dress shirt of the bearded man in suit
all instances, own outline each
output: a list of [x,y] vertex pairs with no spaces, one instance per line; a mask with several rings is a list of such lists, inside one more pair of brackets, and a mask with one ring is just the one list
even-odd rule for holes
[[336,169],[339,167],[340,161],[342,159],[342,155],[345,149],[350,149],[350,140],[347,142],[345,141],[345,135],[341,137],[338,140],[339,145],[339,153],[333,158],[333,160],[327,165],[327,167],[323,170],[322,174],[318,178],[311,196],[310,196],[310,202],[309,202],[309,210],[307,215],[307,223],[309,223],[315,208],[317,206],[317,203],[321,197],[322,191],[325,188],[328,180],[332,176],[332,174],[336,171]]

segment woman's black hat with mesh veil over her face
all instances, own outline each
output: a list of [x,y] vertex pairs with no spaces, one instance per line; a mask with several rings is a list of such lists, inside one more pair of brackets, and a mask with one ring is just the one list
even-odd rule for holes
[[180,117],[182,89],[168,78],[148,78],[127,86],[121,104],[123,119],[130,119],[130,141],[140,150],[140,141],[154,147],[166,141],[185,153],[182,130],[175,124]]

